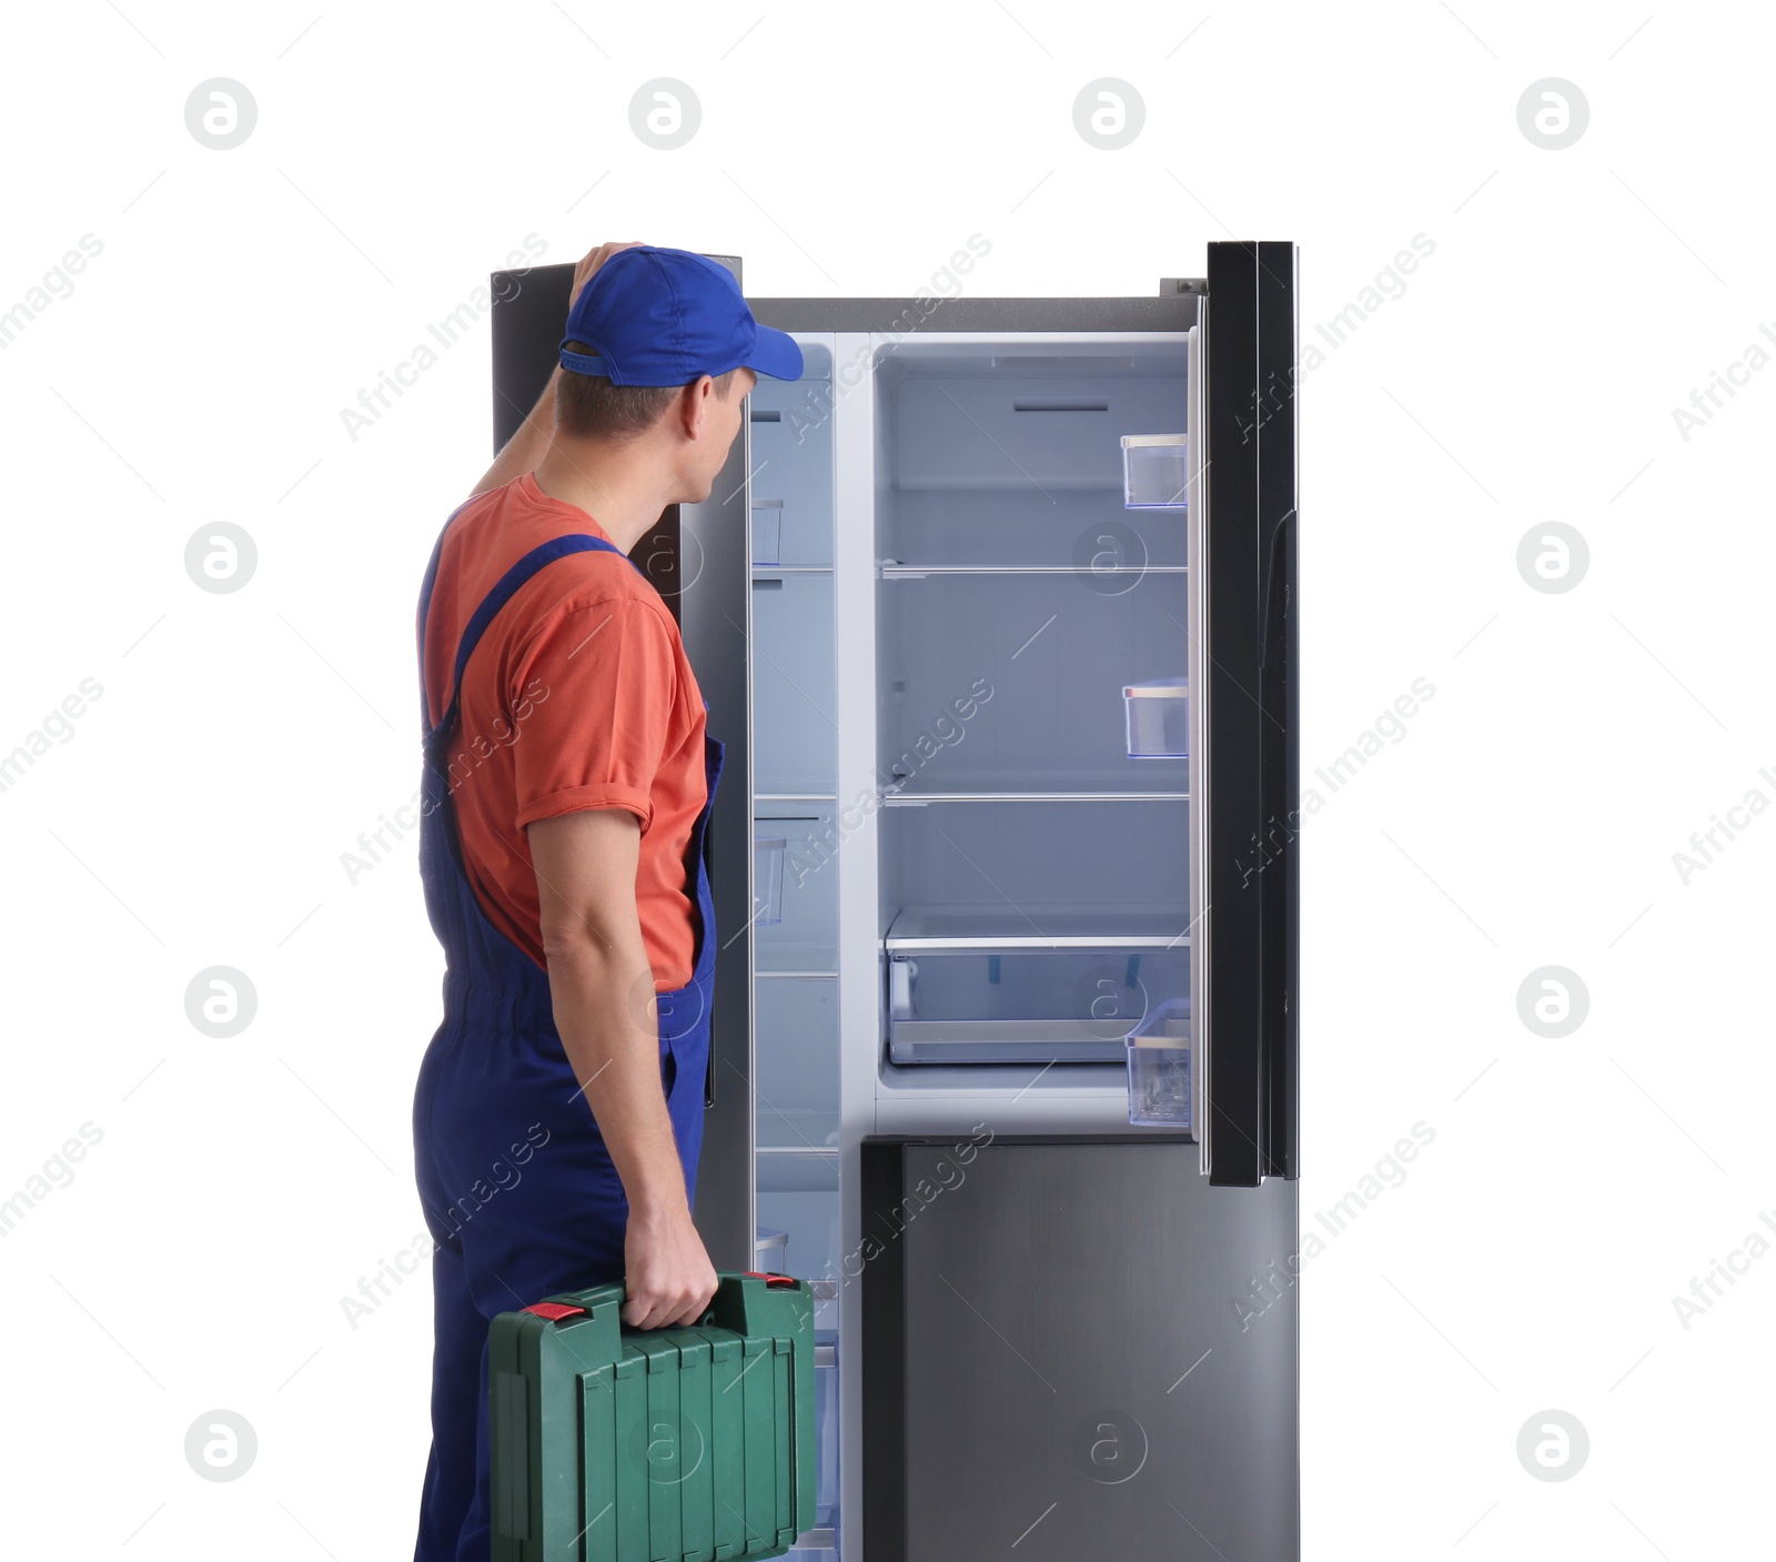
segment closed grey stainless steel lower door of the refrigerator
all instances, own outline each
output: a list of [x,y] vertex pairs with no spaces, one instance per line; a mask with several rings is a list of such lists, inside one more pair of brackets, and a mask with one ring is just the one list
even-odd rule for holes
[[868,1562],[1295,1562],[1295,1185],[1195,1159],[865,1139]]

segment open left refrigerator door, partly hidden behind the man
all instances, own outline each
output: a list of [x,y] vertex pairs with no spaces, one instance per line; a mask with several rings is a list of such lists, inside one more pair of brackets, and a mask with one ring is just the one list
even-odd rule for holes
[[[733,256],[710,256],[735,279]],[[559,363],[574,267],[492,277],[494,448],[504,446]],[[716,897],[716,1009],[705,1080],[709,1112],[696,1178],[696,1226],[718,1269],[753,1269],[753,766],[748,677],[751,590],[748,421],[702,505],[675,505],[630,553],[678,618],[709,702],[709,732],[726,745],[705,844]]]

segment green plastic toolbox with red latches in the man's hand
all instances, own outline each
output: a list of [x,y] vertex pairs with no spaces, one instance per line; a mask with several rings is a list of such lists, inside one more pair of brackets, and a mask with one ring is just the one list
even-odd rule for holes
[[723,1274],[696,1327],[630,1329],[622,1285],[488,1335],[492,1562],[781,1557],[813,1528],[813,1292]]

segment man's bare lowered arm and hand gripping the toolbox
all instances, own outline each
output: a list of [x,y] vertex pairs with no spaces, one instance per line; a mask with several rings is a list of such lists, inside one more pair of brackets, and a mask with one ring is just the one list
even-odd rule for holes
[[661,1089],[654,972],[636,913],[641,821],[583,809],[527,826],[556,1031],[629,1196],[623,1322],[694,1324],[716,1271],[691,1223]]

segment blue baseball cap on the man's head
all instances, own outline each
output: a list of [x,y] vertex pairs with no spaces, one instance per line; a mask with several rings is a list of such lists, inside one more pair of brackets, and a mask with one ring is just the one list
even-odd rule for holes
[[[593,352],[568,352],[581,341]],[[801,379],[796,339],[753,320],[733,272],[686,249],[620,249],[579,290],[561,338],[561,368],[613,386],[687,386],[749,368]]]

